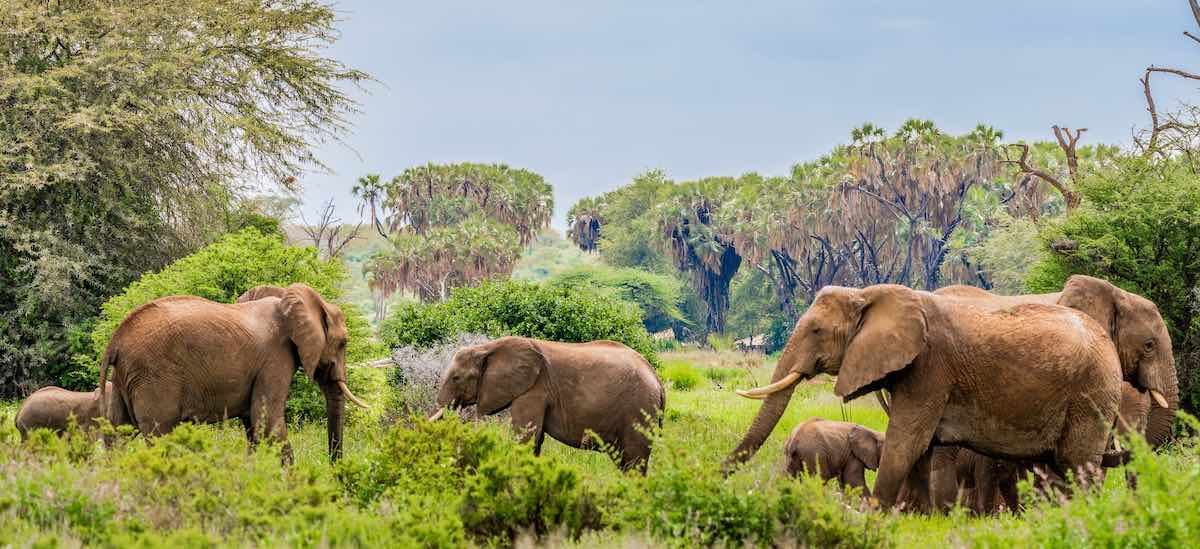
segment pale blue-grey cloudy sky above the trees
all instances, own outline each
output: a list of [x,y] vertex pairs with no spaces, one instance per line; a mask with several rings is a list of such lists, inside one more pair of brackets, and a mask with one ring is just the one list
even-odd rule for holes
[[[584,6],[587,5],[587,6]],[[647,169],[781,174],[874,122],[1128,144],[1147,65],[1200,70],[1186,0],[342,1],[330,55],[376,77],[305,210],[425,162],[504,162],[582,197]],[[1159,77],[1162,105],[1200,96]]]

